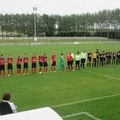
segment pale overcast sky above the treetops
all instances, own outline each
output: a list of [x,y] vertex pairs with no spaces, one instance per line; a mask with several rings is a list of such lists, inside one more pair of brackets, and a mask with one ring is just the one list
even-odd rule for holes
[[32,13],[33,6],[41,15],[70,15],[120,8],[120,0],[0,0],[0,13]]

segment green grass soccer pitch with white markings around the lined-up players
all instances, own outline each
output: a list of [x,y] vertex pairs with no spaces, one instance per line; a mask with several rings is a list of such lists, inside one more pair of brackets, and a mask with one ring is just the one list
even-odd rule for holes
[[[40,107],[52,107],[64,120],[119,120],[120,119],[120,65],[109,65],[78,71],[59,70],[60,53],[66,59],[69,52],[118,51],[118,44],[43,45],[43,46],[0,46],[0,53],[14,58],[13,76],[0,79],[0,96],[12,93],[12,101],[18,111]],[[16,57],[27,53],[48,56],[50,70],[51,54],[56,51],[57,72],[48,74],[16,74]],[[30,70],[31,64],[29,64]]]

